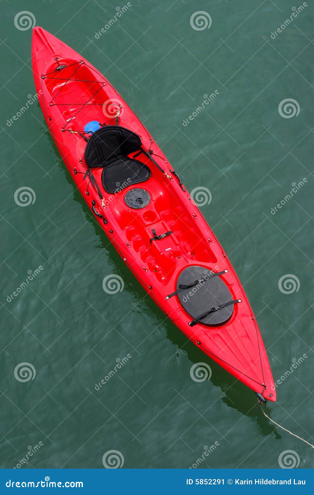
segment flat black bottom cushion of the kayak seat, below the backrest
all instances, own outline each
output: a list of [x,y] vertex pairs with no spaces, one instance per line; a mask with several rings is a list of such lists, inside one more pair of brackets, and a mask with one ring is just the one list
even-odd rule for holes
[[113,194],[133,184],[145,182],[151,175],[151,170],[141,161],[119,156],[103,168],[102,184],[107,193]]

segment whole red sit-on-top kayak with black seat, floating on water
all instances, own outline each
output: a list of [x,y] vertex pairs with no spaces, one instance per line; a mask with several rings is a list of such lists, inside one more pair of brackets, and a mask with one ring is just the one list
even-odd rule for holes
[[40,27],[39,101],[64,163],[122,259],[167,317],[263,400],[276,400],[243,287],[179,175],[105,77]]

